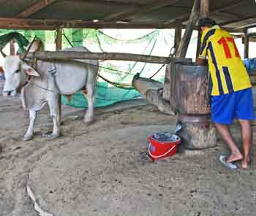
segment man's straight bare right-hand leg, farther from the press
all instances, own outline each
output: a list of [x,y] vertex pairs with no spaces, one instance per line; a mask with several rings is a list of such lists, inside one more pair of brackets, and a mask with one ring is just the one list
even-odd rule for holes
[[241,125],[241,136],[243,139],[244,159],[241,161],[241,167],[247,169],[249,166],[249,151],[252,144],[252,127],[249,120],[239,120]]

